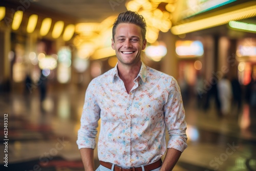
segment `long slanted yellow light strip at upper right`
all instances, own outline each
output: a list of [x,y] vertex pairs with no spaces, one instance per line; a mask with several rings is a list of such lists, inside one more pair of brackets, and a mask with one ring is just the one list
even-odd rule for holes
[[[254,2],[255,3],[255,2]],[[237,10],[225,9],[220,11],[219,15],[212,15],[207,18],[199,19],[194,22],[189,22],[172,27],[171,31],[175,35],[216,27],[227,24],[230,20],[240,20],[256,16],[256,5],[246,4],[247,7],[240,7]],[[250,5],[248,7],[248,5]],[[245,6],[245,5],[244,5]],[[238,8],[238,7],[237,7]]]

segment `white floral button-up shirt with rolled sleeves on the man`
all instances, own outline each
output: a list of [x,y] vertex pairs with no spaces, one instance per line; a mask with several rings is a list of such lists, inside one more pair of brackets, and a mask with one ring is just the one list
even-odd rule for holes
[[177,81],[142,62],[134,83],[127,93],[117,66],[90,82],[78,130],[79,149],[95,148],[100,119],[101,161],[133,167],[158,161],[166,147],[184,151],[186,122]]

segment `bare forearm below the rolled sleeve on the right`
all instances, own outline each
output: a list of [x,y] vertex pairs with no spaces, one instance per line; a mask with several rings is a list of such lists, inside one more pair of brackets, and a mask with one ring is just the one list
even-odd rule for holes
[[167,153],[163,160],[160,171],[173,170],[177,161],[179,160],[181,152],[174,148],[167,148]]

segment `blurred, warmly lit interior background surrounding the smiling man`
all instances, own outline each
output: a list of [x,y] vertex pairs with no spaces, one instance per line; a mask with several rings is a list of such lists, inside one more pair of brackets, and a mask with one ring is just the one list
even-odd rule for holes
[[116,65],[112,24],[126,10],[145,17],[144,63],[181,89],[188,147],[174,170],[256,170],[256,1],[247,0],[1,0],[0,170],[83,170],[84,93]]

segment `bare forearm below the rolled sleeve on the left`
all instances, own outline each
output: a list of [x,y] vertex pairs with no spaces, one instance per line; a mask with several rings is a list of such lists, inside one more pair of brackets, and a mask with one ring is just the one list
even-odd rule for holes
[[80,154],[81,154],[84,170],[94,171],[95,169],[94,169],[93,149],[92,148],[81,148]]

